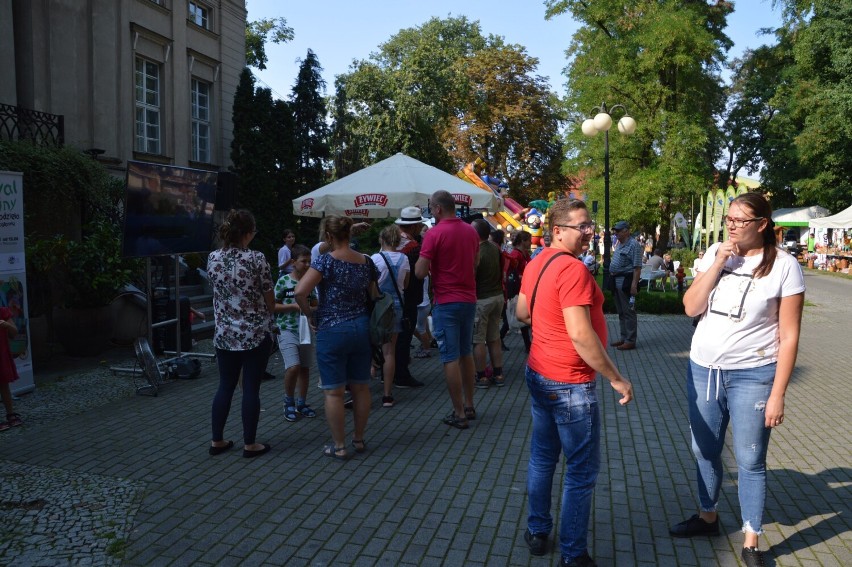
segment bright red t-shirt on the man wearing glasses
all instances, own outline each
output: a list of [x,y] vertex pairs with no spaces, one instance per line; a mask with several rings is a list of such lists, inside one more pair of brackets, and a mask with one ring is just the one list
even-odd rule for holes
[[[545,248],[527,265],[521,280],[521,293],[527,298],[527,306],[541,269],[558,252],[556,248]],[[562,310],[588,305],[592,328],[601,343],[606,344],[603,301],[603,292],[582,261],[565,254],[551,262],[536,291],[529,367],[556,382],[579,384],[594,380],[595,371],[580,358],[568,336]]]

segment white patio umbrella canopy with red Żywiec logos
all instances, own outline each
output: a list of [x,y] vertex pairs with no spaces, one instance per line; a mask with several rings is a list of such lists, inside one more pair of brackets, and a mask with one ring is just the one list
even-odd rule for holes
[[457,205],[467,205],[471,211],[495,211],[502,205],[491,191],[396,154],[293,199],[293,212],[303,217],[398,217],[402,209],[412,205],[425,210],[429,197],[439,189],[449,191]]

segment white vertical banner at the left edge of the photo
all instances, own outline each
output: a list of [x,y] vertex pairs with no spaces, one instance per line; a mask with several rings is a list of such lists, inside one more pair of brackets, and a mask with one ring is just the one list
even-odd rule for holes
[[0,307],[9,308],[18,328],[18,335],[9,338],[9,350],[18,369],[18,380],[12,382],[15,394],[35,388],[24,261],[23,190],[20,173],[0,171]]

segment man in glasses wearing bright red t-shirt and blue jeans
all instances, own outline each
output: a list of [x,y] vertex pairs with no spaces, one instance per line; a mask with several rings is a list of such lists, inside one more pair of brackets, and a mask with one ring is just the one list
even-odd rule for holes
[[595,232],[586,205],[559,200],[549,214],[551,245],[527,265],[517,306],[518,319],[533,327],[526,370],[533,433],[524,539],[531,554],[547,552],[553,529],[551,486],[562,452],[566,471],[559,521],[561,564],[590,567],[595,562],[586,539],[600,469],[595,374],[609,380],[621,394],[622,405],[633,399],[633,386],[606,353],[603,292],[578,259]]

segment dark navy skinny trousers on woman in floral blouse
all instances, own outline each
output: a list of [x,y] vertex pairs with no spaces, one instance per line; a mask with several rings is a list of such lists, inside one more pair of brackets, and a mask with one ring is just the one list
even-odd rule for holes
[[213,397],[213,441],[223,441],[225,422],[231,412],[231,400],[243,373],[242,418],[243,442],[253,445],[260,419],[260,381],[266,371],[272,339],[266,337],[260,345],[250,350],[216,349],[219,363],[219,389]]

